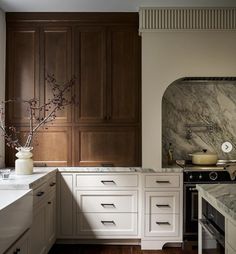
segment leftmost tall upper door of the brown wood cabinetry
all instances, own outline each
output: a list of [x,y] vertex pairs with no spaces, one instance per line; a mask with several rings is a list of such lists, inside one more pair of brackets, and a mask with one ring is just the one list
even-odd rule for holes
[[19,100],[39,99],[39,31],[36,28],[8,29],[6,87],[6,98],[18,100],[7,105],[8,122],[28,122],[27,105]]

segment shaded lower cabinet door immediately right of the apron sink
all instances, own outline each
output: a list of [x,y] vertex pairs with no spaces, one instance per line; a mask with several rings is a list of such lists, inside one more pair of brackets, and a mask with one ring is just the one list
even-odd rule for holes
[[36,210],[31,228],[31,251],[32,254],[44,254],[46,252],[46,204]]

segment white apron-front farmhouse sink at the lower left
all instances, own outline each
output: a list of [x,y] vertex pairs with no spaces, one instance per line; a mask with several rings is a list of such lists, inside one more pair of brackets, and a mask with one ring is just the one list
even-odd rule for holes
[[30,227],[32,210],[31,190],[0,190],[0,254]]

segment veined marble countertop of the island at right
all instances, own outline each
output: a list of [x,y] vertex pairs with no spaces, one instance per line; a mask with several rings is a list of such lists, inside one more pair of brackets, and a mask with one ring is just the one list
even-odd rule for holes
[[197,189],[219,212],[236,222],[236,184],[199,184]]

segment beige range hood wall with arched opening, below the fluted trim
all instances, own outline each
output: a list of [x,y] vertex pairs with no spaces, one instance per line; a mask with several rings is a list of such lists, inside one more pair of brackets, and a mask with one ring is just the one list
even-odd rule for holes
[[186,76],[236,76],[236,32],[142,34],[142,160],[161,167],[161,100]]

